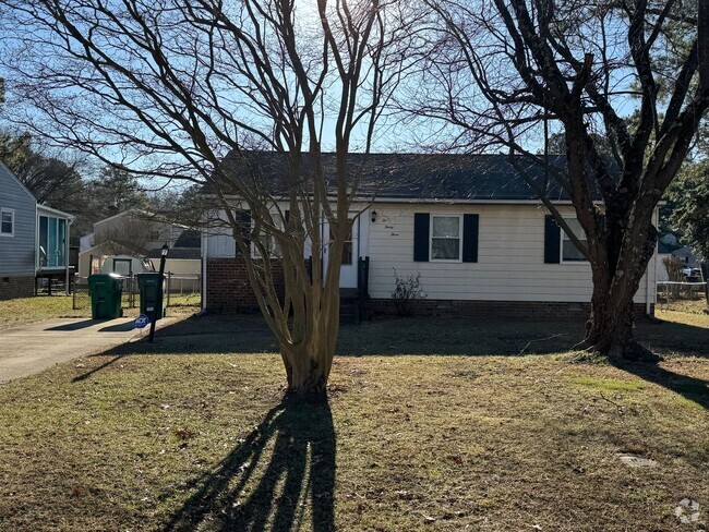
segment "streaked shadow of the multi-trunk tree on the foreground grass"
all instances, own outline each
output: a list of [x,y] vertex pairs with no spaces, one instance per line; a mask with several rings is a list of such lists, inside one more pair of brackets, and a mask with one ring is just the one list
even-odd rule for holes
[[196,489],[165,530],[298,530],[308,506],[312,527],[304,528],[335,530],[335,470],[329,406],[287,397],[216,469],[190,483]]

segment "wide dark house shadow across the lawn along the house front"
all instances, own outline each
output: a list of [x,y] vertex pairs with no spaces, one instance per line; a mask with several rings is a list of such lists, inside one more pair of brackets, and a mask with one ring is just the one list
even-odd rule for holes
[[[658,354],[706,356],[709,329],[639,319],[636,337]],[[502,317],[382,318],[340,328],[340,355],[526,355],[568,352],[584,337],[582,319]],[[189,318],[145,340],[117,346],[100,356],[131,354],[276,353],[278,344],[259,315]]]

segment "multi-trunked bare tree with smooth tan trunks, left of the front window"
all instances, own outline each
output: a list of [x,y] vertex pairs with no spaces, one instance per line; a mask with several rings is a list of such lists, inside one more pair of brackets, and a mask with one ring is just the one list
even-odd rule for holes
[[[399,80],[405,3],[0,5],[5,35],[17,37],[14,28],[24,28],[5,45],[14,53],[0,53],[11,72],[11,93],[27,109],[15,121],[137,176],[207,185],[277,337],[289,388],[323,392],[338,336],[340,257],[361,170],[352,168],[349,153],[369,153]],[[336,165],[328,173],[322,155],[331,147]],[[264,178],[253,149],[280,155],[278,182]],[[324,220],[332,239],[323,237]],[[273,280],[280,265],[268,258],[268,240],[280,251],[283,297]]]

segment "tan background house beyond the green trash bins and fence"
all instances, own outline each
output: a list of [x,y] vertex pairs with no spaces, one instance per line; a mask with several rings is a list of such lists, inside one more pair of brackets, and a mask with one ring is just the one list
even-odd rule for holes
[[[157,257],[159,262],[160,249],[165,244],[171,250],[168,270],[175,265],[180,273],[199,271],[199,233],[194,238],[194,232],[191,233],[184,226],[154,218],[153,214],[145,210],[119,213],[117,207],[109,207],[109,217],[94,223],[94,231],[81,239],[80,277],[99,271],[133,275],[139,271],[136,265],[143,259]],[[190,234],[192,237],[188,238]],[[193,247],[187,249],[187,245]],[[178,257],[188,263],[177,263]]]

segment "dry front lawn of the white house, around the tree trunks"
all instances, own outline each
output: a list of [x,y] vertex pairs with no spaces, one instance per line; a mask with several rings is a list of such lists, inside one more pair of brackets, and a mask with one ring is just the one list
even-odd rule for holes
[[281,402],[257,319],[188,319],[0,387],[0,529],[707,529],[709,316],[673,319],[623,367],[578,323],[346,327],[326,406]]

